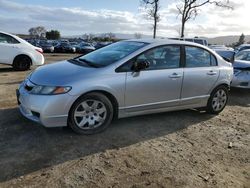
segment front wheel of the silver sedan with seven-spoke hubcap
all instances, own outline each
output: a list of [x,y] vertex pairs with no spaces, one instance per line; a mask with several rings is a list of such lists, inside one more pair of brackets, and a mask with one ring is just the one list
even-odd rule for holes
[[89,93],[77,99],[72,105],[68,125],[78,134],[96,134],[110,125],[113,114],[113,105],[105,95]]

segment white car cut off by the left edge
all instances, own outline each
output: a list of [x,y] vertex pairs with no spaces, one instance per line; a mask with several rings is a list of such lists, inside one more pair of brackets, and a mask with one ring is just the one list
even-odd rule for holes
[[0,32],[0,63],[11,65],[15,70],[28,70],[32,65],[43,65],[43,50],[25,40]]

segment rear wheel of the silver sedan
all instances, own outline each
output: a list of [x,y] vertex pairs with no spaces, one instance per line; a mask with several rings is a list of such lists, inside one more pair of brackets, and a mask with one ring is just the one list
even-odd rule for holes
[[206,111],[210,114],[219,114],[225,108],[227,101],[228,88],[226,86],[218,86],[210,95]]

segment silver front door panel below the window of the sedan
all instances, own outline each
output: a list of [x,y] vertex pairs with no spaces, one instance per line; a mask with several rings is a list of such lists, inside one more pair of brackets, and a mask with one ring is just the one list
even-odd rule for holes
[[126,110],[132,112],[178,105],[182,77],[182,68],[128,72]]

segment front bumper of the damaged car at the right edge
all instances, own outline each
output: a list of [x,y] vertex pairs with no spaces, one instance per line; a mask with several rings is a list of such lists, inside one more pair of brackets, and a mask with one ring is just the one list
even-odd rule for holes
[[234,75],[231,87],[250,89],[250,71],[242,71]]

